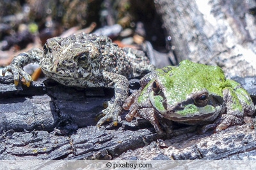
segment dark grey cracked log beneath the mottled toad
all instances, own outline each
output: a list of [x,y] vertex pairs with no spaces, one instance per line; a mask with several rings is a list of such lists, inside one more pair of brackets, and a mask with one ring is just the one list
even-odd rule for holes
[[0,76],[0,159],[113,159],[156,140],[150,124],[140,129],[124,115],[117,127],[95,126],[112,90],[89,94],[88,89],[46,83],[17,90],[13,76]]

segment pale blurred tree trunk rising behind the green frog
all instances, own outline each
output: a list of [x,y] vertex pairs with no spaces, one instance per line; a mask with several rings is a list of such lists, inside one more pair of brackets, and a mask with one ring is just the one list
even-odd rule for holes
[[180,60],[219,65],[228,76],[256,74],[255,1],[156,0]]

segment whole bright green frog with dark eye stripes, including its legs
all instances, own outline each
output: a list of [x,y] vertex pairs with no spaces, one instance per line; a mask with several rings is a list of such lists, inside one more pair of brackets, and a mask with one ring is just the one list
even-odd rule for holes
[[142,117],[154,125],[162,138],[172,133],[173,122],[187,125],[215,125],[215,131],[243,124],[255,111],[250,95],[233,80],[227,80],[218,66],[183,60],[179,66],[156,69],[141,78],[141,88],[129,96],[123,108],[126,116]]

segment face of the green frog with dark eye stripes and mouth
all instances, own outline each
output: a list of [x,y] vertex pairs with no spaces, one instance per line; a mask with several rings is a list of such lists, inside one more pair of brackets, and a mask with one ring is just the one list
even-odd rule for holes
[[[186,98],[168,99],[164,95],[161,83],[152,83],[152,92],[149,94],[150,103],[161,113],[160,115],[174,122],[183,124],[206,124],[212,122],[220,114],[222,97],[209,94],[207,89],[195,90],[186,95]],[[177,93],[176,93],[177,94]],[[167,98],[166,98],[167,97]]]

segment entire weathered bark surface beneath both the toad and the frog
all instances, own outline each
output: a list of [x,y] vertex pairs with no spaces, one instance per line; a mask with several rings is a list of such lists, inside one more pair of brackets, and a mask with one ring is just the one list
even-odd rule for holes
[[[201,135],[195,126],[180,127],[172,139],[157,140],[146,120],[127,122],[125,114],[117,127],[95,126],[96,113],[113,92],[86,96],[88,89],[52,81],[34,82],[17,91],[12,78],[0,76],[0,159],[253,159],[255,155],[255,130],[245,124]],[[244,82],[248,81],[256,80]]]

